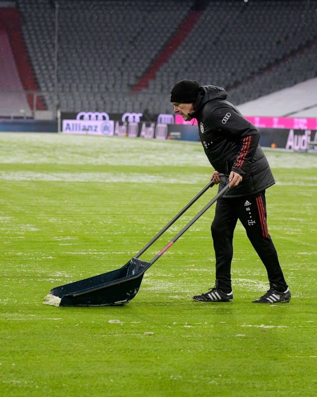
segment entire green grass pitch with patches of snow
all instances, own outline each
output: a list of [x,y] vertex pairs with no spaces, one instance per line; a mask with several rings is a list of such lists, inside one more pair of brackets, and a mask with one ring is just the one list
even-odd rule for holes
[[212,168],[196,143],[1,133],[0,145],[1,395],[314,395],[317,156],[266,151],[277,181],[267,223],[290,303],[251,303],[267,276],[241,224],[233,302],[191,299],[214,285],[212,206],[145,273],[130,303],[60,308],[43,304],[50,289],[123,266]]

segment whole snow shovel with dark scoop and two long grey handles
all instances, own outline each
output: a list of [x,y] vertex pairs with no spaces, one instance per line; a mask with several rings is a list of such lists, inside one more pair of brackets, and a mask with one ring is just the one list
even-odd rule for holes
[[[220,174],[220,176],[227,176]],[[138,257],[152,245],[160,235],[162,235],[180,216],[210,187],[214,182],[208,183],[197,196],[195,196],[145,247],[139,251],[134,258],[130,259],[122,268],[111,272],[99,274],[98,276],[75,281],[73,283],[61,285],[51,289],[50,295],[57,301],[57,306],[105,306],[120,305],[133,299],[144,275],[144,272],[153,265],[154,262],[166,252],[170,246],[178,240],[183,233],[198,218],[208,210],[216,200],[221,197],[227,189],[229,183],[206,205],[204,208],[172,239],[158,254],[151,260],[145,262]],[[60,301],[59,301],[60,299]]]

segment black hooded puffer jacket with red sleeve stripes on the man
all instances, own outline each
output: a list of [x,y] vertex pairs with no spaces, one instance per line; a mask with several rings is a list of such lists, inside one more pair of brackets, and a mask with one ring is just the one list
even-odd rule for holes
[[[256,194],[274,185],[275,180],[258,145],[258,129],[226,98],[223,88],[203,86],[190,116],[198,121],[202,146],[214,169],[225,174],[234,171],[243,176],[241,183],[223,197]],[[223,177],[219,189],[226,183],[228,178]]]

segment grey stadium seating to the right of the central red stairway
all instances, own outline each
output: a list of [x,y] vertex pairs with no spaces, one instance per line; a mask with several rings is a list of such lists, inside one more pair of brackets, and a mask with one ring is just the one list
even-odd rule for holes
[[241,103],[314,77],[316,44],[299,50],[317,38],[317,3],[302,1],[296,13],[298,6],[287,1],[250,2],[246,8],[241,2],[210,2],[147,91],[168,92],[186,76],[225,87]]

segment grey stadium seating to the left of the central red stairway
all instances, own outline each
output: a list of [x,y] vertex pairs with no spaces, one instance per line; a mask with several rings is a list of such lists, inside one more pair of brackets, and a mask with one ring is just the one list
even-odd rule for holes
[[[120,107],[120,94],[151,65],[191,1],[65,1],[59,7],[58,92],[63,110]],[[43,91],[54,89],[54,18],[49,2],[19,1],[23,37]],[[127,4],[127,5],[126,5]],[[164,34],[163,34],[164,33]],[[110,98],[116,93],[116,99]],[[97,94],[97,95],[96,95]],[[96,105],[95,105],[96,104]],[[95,107],[96,106],[96,107]]]

